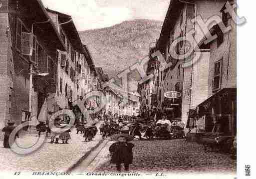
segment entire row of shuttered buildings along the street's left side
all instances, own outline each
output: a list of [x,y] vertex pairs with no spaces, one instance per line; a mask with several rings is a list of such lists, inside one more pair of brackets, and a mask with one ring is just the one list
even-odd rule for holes
[[[41,0],[4,0],[0,12],[0,128],[29,116],[46,121],[98,89],[95,65],[71,16],[46,9]],[[48,75],[33,75],[29,114],[30,69]]]

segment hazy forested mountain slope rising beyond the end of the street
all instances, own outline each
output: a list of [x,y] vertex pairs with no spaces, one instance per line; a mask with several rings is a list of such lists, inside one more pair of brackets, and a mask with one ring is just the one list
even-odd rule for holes
[[114,77],[148,55],[149,44],[159,37],[161,27],[161,21],[136,19],[79,34],[95,65]]

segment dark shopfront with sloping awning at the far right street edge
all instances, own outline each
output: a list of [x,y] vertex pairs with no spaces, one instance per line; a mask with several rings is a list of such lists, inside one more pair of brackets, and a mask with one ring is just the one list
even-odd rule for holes
[[188,112],[190,140],[205,132],[235,136],[237,133],[237,88],[223,88]]

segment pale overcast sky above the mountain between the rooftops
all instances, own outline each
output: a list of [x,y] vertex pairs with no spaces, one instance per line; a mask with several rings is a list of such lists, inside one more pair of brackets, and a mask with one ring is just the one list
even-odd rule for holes
[[163,21],[170,0],[42,0],[72,16],[78,30],[103,28],[137,18]]

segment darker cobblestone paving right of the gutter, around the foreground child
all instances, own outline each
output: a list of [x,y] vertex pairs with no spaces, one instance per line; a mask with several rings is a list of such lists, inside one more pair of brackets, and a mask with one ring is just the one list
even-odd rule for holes
[[[110,142],[110,144],[113,142]],[[236,161],[228,155],[204,152],[197,143],[182,140],[133,141],[134,160],[130,171],[136,172],[171,172],[171,173],[235,173]],[[115,171],[115,165],[109,164],[108,144],[99,155],[95,172]],[[105,156],[105,157],[104,157]],[[95,159],[99,160],[99,159]],[[92,164],[92,166],[96,164]]]

